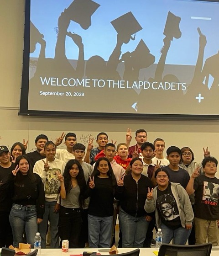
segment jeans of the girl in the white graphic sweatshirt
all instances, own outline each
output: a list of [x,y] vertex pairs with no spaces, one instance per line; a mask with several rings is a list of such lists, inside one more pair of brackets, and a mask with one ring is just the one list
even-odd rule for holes
[[50,224],[50,234],[51,234],[51,248],[59,247],[59,236],[58,236],[58,213],[54,213],[54,208],[57,201],[45,202],[45,213],[43,214],[43,219],[41,224],[39,224],[39,232],[42,238],[41,247],[46,248],[46,235],[48,220]]

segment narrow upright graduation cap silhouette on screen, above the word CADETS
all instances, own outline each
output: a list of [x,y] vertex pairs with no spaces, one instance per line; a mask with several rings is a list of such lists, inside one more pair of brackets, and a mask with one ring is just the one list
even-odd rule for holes
[[175,16],[171,11],[169,11],[168,15],[167,15],[167,21],[166,21],[166,25],[165,25],[163,34],[166,37],[180,38],[182,35],[180,28],[179,28],[180,21],[181,21],[180,17]]

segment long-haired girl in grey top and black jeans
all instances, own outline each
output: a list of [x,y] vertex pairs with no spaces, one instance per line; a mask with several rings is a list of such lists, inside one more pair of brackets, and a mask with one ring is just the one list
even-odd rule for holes
[[86,182],[83,169],[78,160],[70,160],[65,166],[63,176],[58,174],[61,183],[61,206],[58,232],[61,240],[69,240],[69,248],[78,248],[81,230],[81,209],[84,203]]

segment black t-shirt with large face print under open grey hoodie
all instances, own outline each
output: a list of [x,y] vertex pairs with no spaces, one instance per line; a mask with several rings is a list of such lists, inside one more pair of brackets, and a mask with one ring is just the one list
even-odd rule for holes
[[161,191],[157,188],[156,208],[163,224],[171,229],[181,226],[177,203],[172,195],[171,185]]

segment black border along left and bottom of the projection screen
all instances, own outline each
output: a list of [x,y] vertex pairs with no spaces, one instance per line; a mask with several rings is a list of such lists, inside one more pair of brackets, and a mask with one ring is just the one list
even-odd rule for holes
[[[194,0],[195,1],[195,0]],[[208,1],[209,0],[201,0]],[[210,0],[219,2],[219,0]],[[219,120],[219,115],[189,115],[189,114],[151,114],[151,113],[104,113],[104,112],[63,112],[63,111],[34,111],[28,110],[29,92],[29,52],[30,52],[30,13],[31,0],[25,0],[24,46],[21,78],[21,97],[19,116],[36,117],[77,117],[77,118],[109,118],[109,119],[180,119],[180,120]]]

